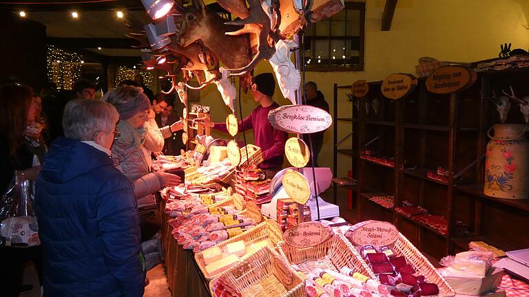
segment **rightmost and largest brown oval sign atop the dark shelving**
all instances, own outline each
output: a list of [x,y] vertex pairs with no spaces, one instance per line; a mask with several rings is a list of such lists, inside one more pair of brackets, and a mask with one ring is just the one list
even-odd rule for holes
[[461,66],[444,66],[426,78],[426,89],[433,94],[452,94],[464,91],[474,84],[477,74],[470,68]]

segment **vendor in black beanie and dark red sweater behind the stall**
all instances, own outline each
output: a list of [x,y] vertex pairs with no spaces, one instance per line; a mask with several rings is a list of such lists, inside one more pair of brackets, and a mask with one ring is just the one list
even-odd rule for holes
[[[275,89],[276,80],[273,79],[273,74],[264,73],[255,76],[251,85],[251,94],[259,106],[253,109],[244,120],[239,121],[239,132],[253,129],[256,146],[261,148],[264,159],[259,167],[267,173],[269,178],[281,170],[284,144],[287,142],[288,136],[286,132],[273,128],[268,120],[269,111],[279,107],[279,104],[272,99]],[[218,131],[227,132],[226,124],[202,120]]]

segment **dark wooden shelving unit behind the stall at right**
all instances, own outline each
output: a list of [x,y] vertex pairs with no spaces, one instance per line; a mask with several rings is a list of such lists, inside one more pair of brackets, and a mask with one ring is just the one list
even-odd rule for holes
[[[481,72],[473,87],[459,94],[435,95],[426,90],[424,79],[419,79],[415,91],[400,100],[384,98],[380,94],[382,82],[373,82],[369,83],[369,93],[357,98],[359,102],[353,104],[347,118],[339,118],[335,109],[334,118],[349,122],[349,126],[334,125],[335,140],[339,125],[340,129],[352,129],[344,132],[354,132],[348,142],[351,148],[340,147],[334,152],[334,175],[338,166],[348,164],[338,162],[338,156],[343,159],[345,154],[351,159],[349,169],[358,181],[351,187],[353,197],[357,197],[352,206],[356,217],[351,223],[390,221],[419,250],[437,259],[467,250],[470,241],[484,241],[497,248],[526,248],[529,199],[498,199],[483,192],[486,132],[492,124],[499,124],[499,116],[482,94],[491,94],[492,90],[501,94],[501,89],[512,85],[519,97],[527,96],[528,80],[529,69]],[[335,107],[344,104],[350,89],[334,85]],[[380,102],[377,113],[370,104],[374,98]],[[367,108],[366,102],[370,104]],[[515,102],[506,123],[523,123]],[[366,148],[392,157],[395,166],[365,159],[361,153]],[[447,183],[426,175],[428,169],[435,172],[438,166],[448,170]],[[447,234],[369,200],[373,194],[383,193],[395,197],[395,207],[408,201],[426,208],[429,214],[446,218]],[[465,232],[459,232],[461,225],[466,226]]]

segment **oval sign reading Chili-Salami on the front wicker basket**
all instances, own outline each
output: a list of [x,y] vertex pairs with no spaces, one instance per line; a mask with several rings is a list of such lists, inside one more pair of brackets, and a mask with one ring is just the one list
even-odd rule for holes
[[283,233],[284,242],[296,248],[320,245],[331,237],[331,230],[319,222],[304,222]]

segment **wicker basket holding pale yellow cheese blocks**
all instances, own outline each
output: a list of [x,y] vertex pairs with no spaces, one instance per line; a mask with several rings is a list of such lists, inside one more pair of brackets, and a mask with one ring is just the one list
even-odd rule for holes
[[[222,243],[219,243],[215,246],[222,249],[225,248],[225,246],[229,243],[234,243],[236,241],[256,243],[265,239],[270,239],[273,245],[277,245],[278,242],[283,240],[283,233],[281,231],[281,228],[279,227],[278,222],[269,219],[260,223],[259,225],[256,225],[254,228],[251,228],[247,232],[242,232],[242,234],[238,234],[237,236],[234,236],[233,238],[228,239],[227,241],[222,241]],[[216,275],[210,275],[206,272],[206,265],[204,263],[204,257],[202,254],[203,252],[195,254],[195,261],[198,265],[198,268],[200,268],[200,271],[202,271],[202,273],[204,274],[204,277],[209,281]],[[250,255],[245,255],[243,259],[247,258],[248,256]]]

